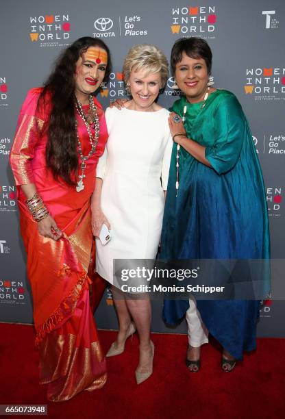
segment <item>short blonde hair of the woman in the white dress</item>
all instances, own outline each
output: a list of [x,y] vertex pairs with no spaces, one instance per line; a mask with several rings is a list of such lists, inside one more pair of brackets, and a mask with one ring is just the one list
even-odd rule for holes
[[149,73],[160,73],[162,88],[169,77],[169,63],[164,53],[155,45],[140,44],[132,47],[123,64],[125,83],[129,80],[132,70],[145,70]]

